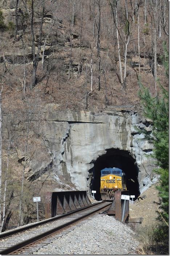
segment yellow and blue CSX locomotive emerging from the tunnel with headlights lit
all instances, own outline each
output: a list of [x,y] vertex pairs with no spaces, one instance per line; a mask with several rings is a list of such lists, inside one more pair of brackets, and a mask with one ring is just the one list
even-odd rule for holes
[[102,199],[113,199],[118,189],[126,190],[125,173],[119,168],[105,168],[101,170],[100,193]]

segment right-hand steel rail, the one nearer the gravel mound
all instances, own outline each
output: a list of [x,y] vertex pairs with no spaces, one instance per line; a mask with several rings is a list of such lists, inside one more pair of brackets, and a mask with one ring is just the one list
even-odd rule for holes
[[[105,203],[105,202],[100,202],[100,203],[97,203],[97,204],[91,204],[90,207],[94,207],[94,206],[96,206],[96,205],[98,205],[98,204],[102,204],[102,203]],[[48,230],[48,231],[46,231],[46,232],[43,232],[43,233],[41,233],[41,234],[39,234],[39,235],[37,235],[37,236],[31,237],[31,238],[29,238],[29,239],[27,239],[27,240],[25,240],[25,241],[22,241],[22,242],[20,242],[20,243],[17,243],[17,244],[15,244],[15,245],[13,245],[13,246],[11,246],[11,247],[9,247],[9,248],[6,248],[6,249],[0,251],[0,254],[1,254],[1,255],[8,255],[8,254],[14,253],[14,252],[16,252],[17,250],[22,249],[22,248],[24,248],[25,246],[27,246],[27,245],[29,245],[29,244],[31,244],[31,243],[35,243],[36,241],[38,241],[38,240],[40,240],[40,239],[43,239],[44,237],[49,236],[49,235],[51,235],[52,233],[55,233],[55,232],[59,231],[60,229],[63,229],[63,228],[65,228],[65,227],[68,227],[69,225],[71,225],[71,224],[73,224],[73,223],[76,223],[77,221],[80,221],[80,220],[82,220],[82,219],[84,219],[84,218],[86,218],[86,217],[88,217],[88,216],[90,216],[90,215],[92,215],[92,214],[94,214],[94,213],[96,213],[96,212],[98,212],[98,211],[101,211],[103,208],[108,207],[110,204],[111,204],[111,203],[108,202],[108,205],[104,205],[104,206],[102,206],[102,207],[100,207],[100,208],[98,208],[98,209],[95,209],[95,210],[92,211],[92,212],[86,213],[85,215],[83,215],[83,216],[81,216],[81,217],[78,217],[78,218],[76,218],[76,219],[74,219],[74,220],[72,220],[72,221],[69,221],[68,223],[62,224],[62,225],[60,225],[60,226],[58,226],[58,227],[55,227],[55,228],[52,228],[52,229],[50,229],[50,230]],[[85,208],[89,208],[89,207],[84,207],[84,209],[85,209]],[[79,209],[79,210],[80,210],[80,209]],[[81,211],[81,210],[80,210],[80,211]],[[72,211],[71,214],[73,214],[73,212],[75,212],[75,211]],[[76,211],[76,212],[77,212],[77,211]],[[70,215],[70,214],[69,214],[69,215]],[[66,217],[66,215],[64,215],[64,216]]]

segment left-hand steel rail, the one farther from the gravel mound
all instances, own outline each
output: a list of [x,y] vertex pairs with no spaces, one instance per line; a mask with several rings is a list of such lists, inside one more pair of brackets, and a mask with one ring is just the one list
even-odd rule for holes
[[54,220],[58,220],[58,219],[64,218],[64,217],[69,216],[69,215],[71,215],[73,213],[80,212],[80,211],[83,211],[85,209],[88,209],[88,208],[92,207],[92,205],[98,205],[98,204],[101,204],[101,203],[104,203],[104,201],[103,202],[94,203],[94,204],[90,204],[90,205],[87,205],[85,207],[78,208],[78,209],[70,211],[68,213],[64,213],[63,215],[60,215],[60,216],[51,217],[51,218],[46,219],[46,220],[41,220],[41,221],[36,222],[36,223],[28,224],[27,226],[15,228],[15,229],[13,229],[11,231],[2,232],[0,234],[0,239],[3,238],[3,237],[6,237],[6,236],[13,235],[15,233],[19,233],[21,231],[25,231],[25,230],[30,229],[30,228],[37,227],[39,225],[43,225],[43,224],[48,223],[50,221],[54,221]]

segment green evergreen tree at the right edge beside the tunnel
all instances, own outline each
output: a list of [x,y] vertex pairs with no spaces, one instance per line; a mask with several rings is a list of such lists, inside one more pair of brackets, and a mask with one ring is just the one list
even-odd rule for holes
[[[169,70],[169,54],[164,44],[165,58],[163,65],[165,67],[166,76],[168,78]],[[161,209],[159,220],[161,225],[157,229],[158,235],[163,236],[165,244],[168,243],[169,232],[169,92],[160,86],[160,93],[156,97],[152,97],[148,88],[145,88],[139,80],[139,97],[143,107],[145,117],[152,122],[153,131],[151,134],[145,133],[145,139],[154,145],[154,154],[157,160],[158,168],[155,173],[159,175],[159,184],[157,189],[161,198]]]

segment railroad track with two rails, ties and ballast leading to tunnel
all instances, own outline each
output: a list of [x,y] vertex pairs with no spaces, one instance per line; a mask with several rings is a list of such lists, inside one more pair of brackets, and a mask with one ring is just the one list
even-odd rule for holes
[[51,236],[56,232],[63,231],[66,227],[74,229],[73,224],[108,208],[112,202],[102,201],[82,207],[75,211],[59,215],[38,223],[29,224],[12,231],[0,234],[0,255],[8,254],[32,254],[37,251],[35,244],[39,247],[51,243]]

